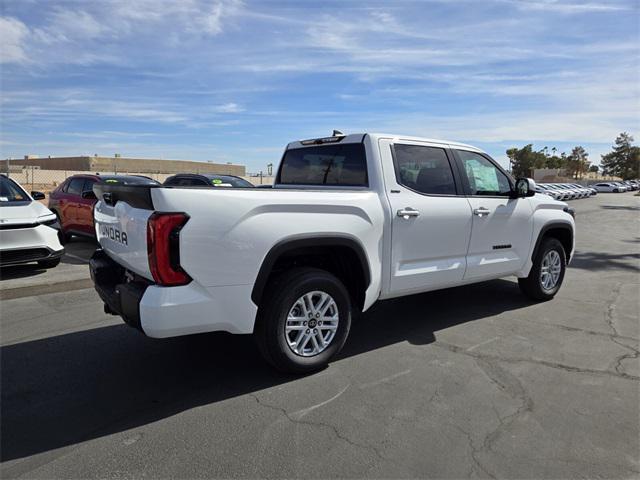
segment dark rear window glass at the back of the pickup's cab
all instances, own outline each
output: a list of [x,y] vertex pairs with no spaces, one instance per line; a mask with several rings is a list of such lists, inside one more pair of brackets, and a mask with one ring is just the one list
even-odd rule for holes
[[366,187],[369,182],[364,145],[345,143],[287,150],[277,183]]

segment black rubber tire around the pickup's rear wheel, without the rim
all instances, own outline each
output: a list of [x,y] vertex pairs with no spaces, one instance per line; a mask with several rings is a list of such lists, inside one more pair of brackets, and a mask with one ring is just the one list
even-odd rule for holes
[[[338,310],[338,328],[329,345],[314,356],[301,356],[289,346],[285,326],[289,311],[305,293],[321,291],[331,295]],[[351,328],[351,299],[342,282],[317,268],[296,268],[269,283],[254,329],[264,358],[287,373],[308,373],[324,368],[344,346]]]

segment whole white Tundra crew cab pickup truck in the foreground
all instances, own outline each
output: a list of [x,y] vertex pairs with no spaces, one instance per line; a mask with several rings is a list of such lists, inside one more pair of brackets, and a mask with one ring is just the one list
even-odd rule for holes
[[574,246],[573,211],[532,180],[408,136],[290,143],[273,188],[94,191],[106,312],[150,337],[253,334],[292,372],[325,365],[377,300],[505,276],[551,299]]

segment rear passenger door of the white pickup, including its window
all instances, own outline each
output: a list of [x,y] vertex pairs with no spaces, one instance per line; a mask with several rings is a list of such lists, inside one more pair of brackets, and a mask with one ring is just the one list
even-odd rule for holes
[[448,148],[381,140],[380,152],[392,215],[388,296],[457,284],[472,220]]

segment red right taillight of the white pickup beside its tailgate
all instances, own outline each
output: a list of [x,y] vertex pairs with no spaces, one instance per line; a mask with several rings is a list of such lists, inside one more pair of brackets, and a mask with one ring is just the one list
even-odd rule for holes
[[185,285],[191,277],[180,266],[180,229],[189,216],[184,213],[154,213],[147,221],[149,270],[158,285]]

